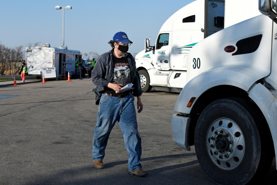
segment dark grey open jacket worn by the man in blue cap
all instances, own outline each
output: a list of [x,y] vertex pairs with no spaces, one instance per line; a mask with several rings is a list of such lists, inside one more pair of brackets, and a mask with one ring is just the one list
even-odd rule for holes
[[[140,77],[138,70],[136,70],[136,62],[130,53],[128,53],[127,59],[131,70],[131,80],[134,84],[132,93],[134,96],[141,96],[142,91]],[[91,72],[92,82],[96,85],[96,88],[93,89],[93,92],[95,93],[96,105],[99,104],[100,98],[103,92],[106,91],[108,83],[113,81],[115,67],[114,63],[112,49],[108,53],[104,53],[98,57],[97,62],[95,63],[95,66]]]

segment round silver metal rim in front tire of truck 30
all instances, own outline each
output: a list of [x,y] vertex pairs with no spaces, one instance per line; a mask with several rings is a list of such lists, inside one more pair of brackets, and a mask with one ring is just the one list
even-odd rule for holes
[[219,168],[235,169],[245,153],[242,130],[229,118],[220,118],[212,123],[207,133],[207,150],[210,158]]

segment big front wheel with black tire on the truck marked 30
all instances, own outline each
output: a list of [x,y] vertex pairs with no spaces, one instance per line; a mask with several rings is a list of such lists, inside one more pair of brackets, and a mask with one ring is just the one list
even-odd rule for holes
[[271,133],[254,107],[239,98],[220,99],[209,104],[197,121],[196,156],[216,184],[258,182],[272,164]]

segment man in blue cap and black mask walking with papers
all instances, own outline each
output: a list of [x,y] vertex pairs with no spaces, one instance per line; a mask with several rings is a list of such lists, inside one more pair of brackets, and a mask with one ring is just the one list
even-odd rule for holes
[[[108,43],[112,50],[99,56],[91,74],[92,82],[97,86],[93,91],[99,105],[93,135],[93,162],[96,168],[104,168],[102,160],[108,138],[115,122],[118,122],[129,153],[129,174],[144,176],[147,172],[142,170],[140,163],[141,137],[134,107],[136,96],[138,112],[143,110],[142,91],[134,58],[127,53],[132,42],[126,33],[117,32]],[[134,89],[122,91],[121,88],[128,83],[133,83]]]

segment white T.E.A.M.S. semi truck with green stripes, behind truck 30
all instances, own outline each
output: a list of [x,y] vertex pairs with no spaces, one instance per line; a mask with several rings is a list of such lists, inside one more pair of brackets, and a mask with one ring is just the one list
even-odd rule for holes
[[[245,5],[248,8],[244,8]],[[146,39],[145,50],[136,55],[142,90],[147,92],[153,87],[181,92],[187,83],[190,49],[224,27],[258,14],[253,0],[197,0],[184,6],[162,25],[155,46],[149,46],[149,39]]]

